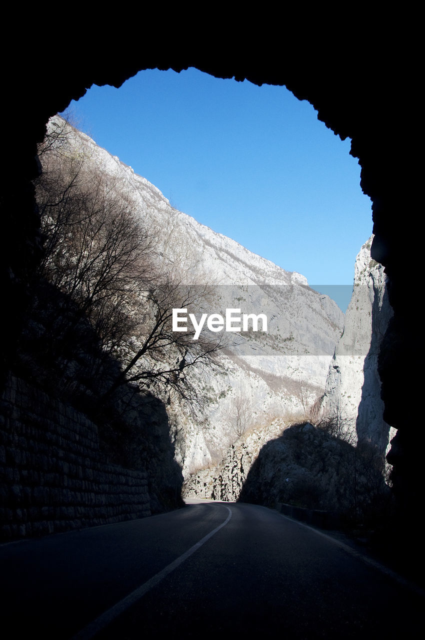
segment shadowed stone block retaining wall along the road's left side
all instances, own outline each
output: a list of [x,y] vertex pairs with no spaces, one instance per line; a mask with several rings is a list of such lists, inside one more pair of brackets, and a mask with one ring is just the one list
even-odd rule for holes
[[104,460],[72,406],[10,376],[0,420],[0,540],[150,515],[147,473]]

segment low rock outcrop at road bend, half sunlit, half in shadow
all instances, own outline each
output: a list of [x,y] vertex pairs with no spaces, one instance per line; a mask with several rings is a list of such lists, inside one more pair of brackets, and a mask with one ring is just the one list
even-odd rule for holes
[[275,421],[262,434],[240,438],[220,465],[193,474],[183,493],[271,507],[283,502],[364,521],[390,504],[383,471],[373,447],[354,447],[309,422],[285,428]]

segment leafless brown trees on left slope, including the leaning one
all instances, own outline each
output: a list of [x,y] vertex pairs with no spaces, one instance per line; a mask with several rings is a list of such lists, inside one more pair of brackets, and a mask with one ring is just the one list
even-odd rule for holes
[[196,340],[194,331],[173,332],[172,309],[199,312],[209,287],[184,286],[177,273],[166,275],[156,259],[157,239],[141,224],[131,196],[73,145],[73,135],[59,123],[42,147],[40,275],[75,303],[104,353],[122,363],[104,395],[133,382],[193,403],[195,385],[186,372],[218,366],[221,341],[205,332]]

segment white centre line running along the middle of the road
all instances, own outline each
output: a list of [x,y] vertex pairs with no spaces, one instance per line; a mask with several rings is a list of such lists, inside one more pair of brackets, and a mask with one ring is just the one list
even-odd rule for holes
[[145,593],[150,591],[152,587],[158,584],[158,582],[161,582],[161,580],[163,580],[164,577],[168,575],[168,573],[171,573],[180,564],[184,563],[184,561],[187,560],[189,556],[194,554],[195,551],[198,550],[198,548],[202,547],[202,545],[204,545],[205,542],[207,542],[207,540],[212,538],[212,536],[214,536],[214,534],[216,534],[217,531],[220,531],[222,527],[225,527],[225,525],[227,525],[230,518],[232,517],[232,511],[230,511],[229,507],[225,507],[225,509],[229,511],[229,515],[227,516],[224,522],[218,525],[218,527],[216,527],[215,529],[212,529],[212,531],[210,531],[206,536],[204,536],[204,538],[201,538],[200,541],[196,542],[196,545],[193,545],[193,547],[189,548],[184,554],[182,554],[182,556],[179,556],[171,564],[168,564],[162,571],[160,571],[159,573],[156,573],[156,575],[150,578],[150,580],[142,584],[137,589],[134,589],[132,593],[129,593],[128,596],[120,600],[120,602],[117,602],[113,607],[108,609],[108,611],[105,611],[104,613],[102,613],[99,616],[99,618],[96,618],[95,620],[93,620],[93,622],[87,625],[87,627],[84,627],[80,632],[76,634],[76,636],[74,636],[73,640],[90,640],[90,638],[98,634],[99,631],[101,631],[105,627],[108,627],[108,625],[113,620],[115,620],[115,618],[118,618],[118,616],[122,614],[122,612],[129,609],[129,607],[131,607],[132,604],[140,600],[140,598],[142,598],[145,595]]

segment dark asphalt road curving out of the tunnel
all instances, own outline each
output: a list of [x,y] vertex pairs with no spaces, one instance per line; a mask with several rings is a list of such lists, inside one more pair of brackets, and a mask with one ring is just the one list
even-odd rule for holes
[[339,541],[260,506],[191,502],[0,547],[4,640],[423,637],[423,593]]

